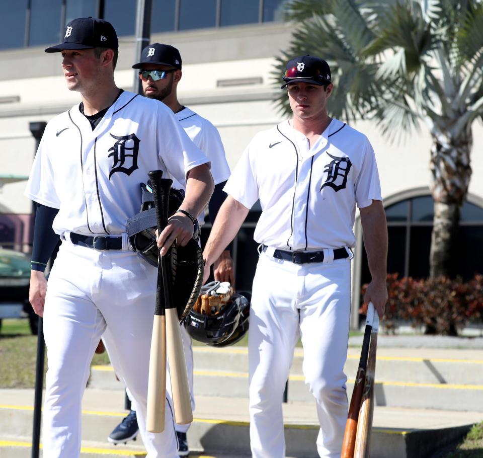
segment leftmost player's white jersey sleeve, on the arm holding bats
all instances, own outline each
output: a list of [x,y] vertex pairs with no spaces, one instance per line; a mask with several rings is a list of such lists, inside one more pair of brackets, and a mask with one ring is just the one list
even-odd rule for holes
[[[163,109],[163,107],[165,107]],[[186,186],[188,172],[202,164],[210,167],[210,162],[181,127],[171,109],[158,104],[158,154],[168,172],[183,186]],[[180,161],[180,153],[183,161]]]

